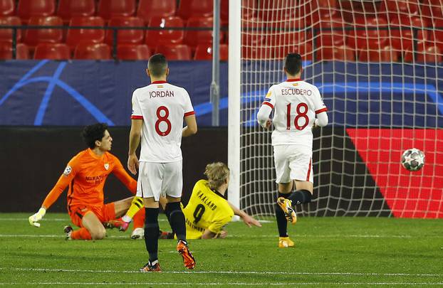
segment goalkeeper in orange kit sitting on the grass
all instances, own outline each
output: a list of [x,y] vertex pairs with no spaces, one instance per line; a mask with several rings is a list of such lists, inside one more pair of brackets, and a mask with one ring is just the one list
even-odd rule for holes
[[[66,226],[64,229],[66,238],[99,240],[106,235],[104,224],[121,217],[132,202],[130,197],[113,203],[103,203],[103,186],[106,178],[113,173],[133,194],[137,191],[137,181],[127,174],[117,157],[109,153],[113,138],[110,137],[107,124],[99,123],[85,127],[83,139],[89,148],[80,151],[68,162],[65,171],[46,196],[41,208],[29,217],[29,223],[39,227],[38,221],[68,187],[68,214],[72,223],[80,229],[73,230],[71,226]],[[135,215],[135,228],[144,225],[144,212],[140,210]]]

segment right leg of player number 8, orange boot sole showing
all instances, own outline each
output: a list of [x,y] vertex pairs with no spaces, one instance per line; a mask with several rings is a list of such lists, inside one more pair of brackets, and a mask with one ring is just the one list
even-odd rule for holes
[[183,257],[187,269],[194,269],[195,259],[189,251],[186,240],[186,224],[180,207],[183,188],[182,161],[165,164],[165,178],[162,183],[162,193],[166,194],[165,212],[170,220],[172,233],[177,235],[177,252]]

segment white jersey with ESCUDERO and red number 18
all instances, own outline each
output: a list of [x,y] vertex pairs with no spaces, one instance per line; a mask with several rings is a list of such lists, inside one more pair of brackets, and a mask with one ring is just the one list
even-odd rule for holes
[[288,80],[273,85],[266,100],[275,110],[273,145],[312,146],[311,128],[316,114],[325,111],[318,88],[303,80]]

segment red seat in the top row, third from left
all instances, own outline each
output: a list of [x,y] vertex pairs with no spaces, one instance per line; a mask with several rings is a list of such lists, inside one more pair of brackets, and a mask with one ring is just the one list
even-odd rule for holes
[[57,16],[69,23],[72,17],[94,16],[95,0],[58,0]]

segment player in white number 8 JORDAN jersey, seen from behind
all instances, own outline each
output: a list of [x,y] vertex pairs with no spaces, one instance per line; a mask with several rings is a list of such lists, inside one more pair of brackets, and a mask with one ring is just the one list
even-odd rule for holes
[[[140,271],[160,271],[158,262],[158,213],[160,195],[166,196],[166,213],[177,235],[177,251],[184,266],[194,269],[195,260],[186,241],[182,196],[182,137],[197,133],[194,108],[186,90],[166,82],[169,68],[162,54],[152,55],[147,64],[151,84],[132,94],[132,116],[127,169],[139,176],[137,196],[145,205],[145,244],[149,261]],[[187,126],[183,127],[183,118]],[[140,161],[135,150],[142,142]]]

